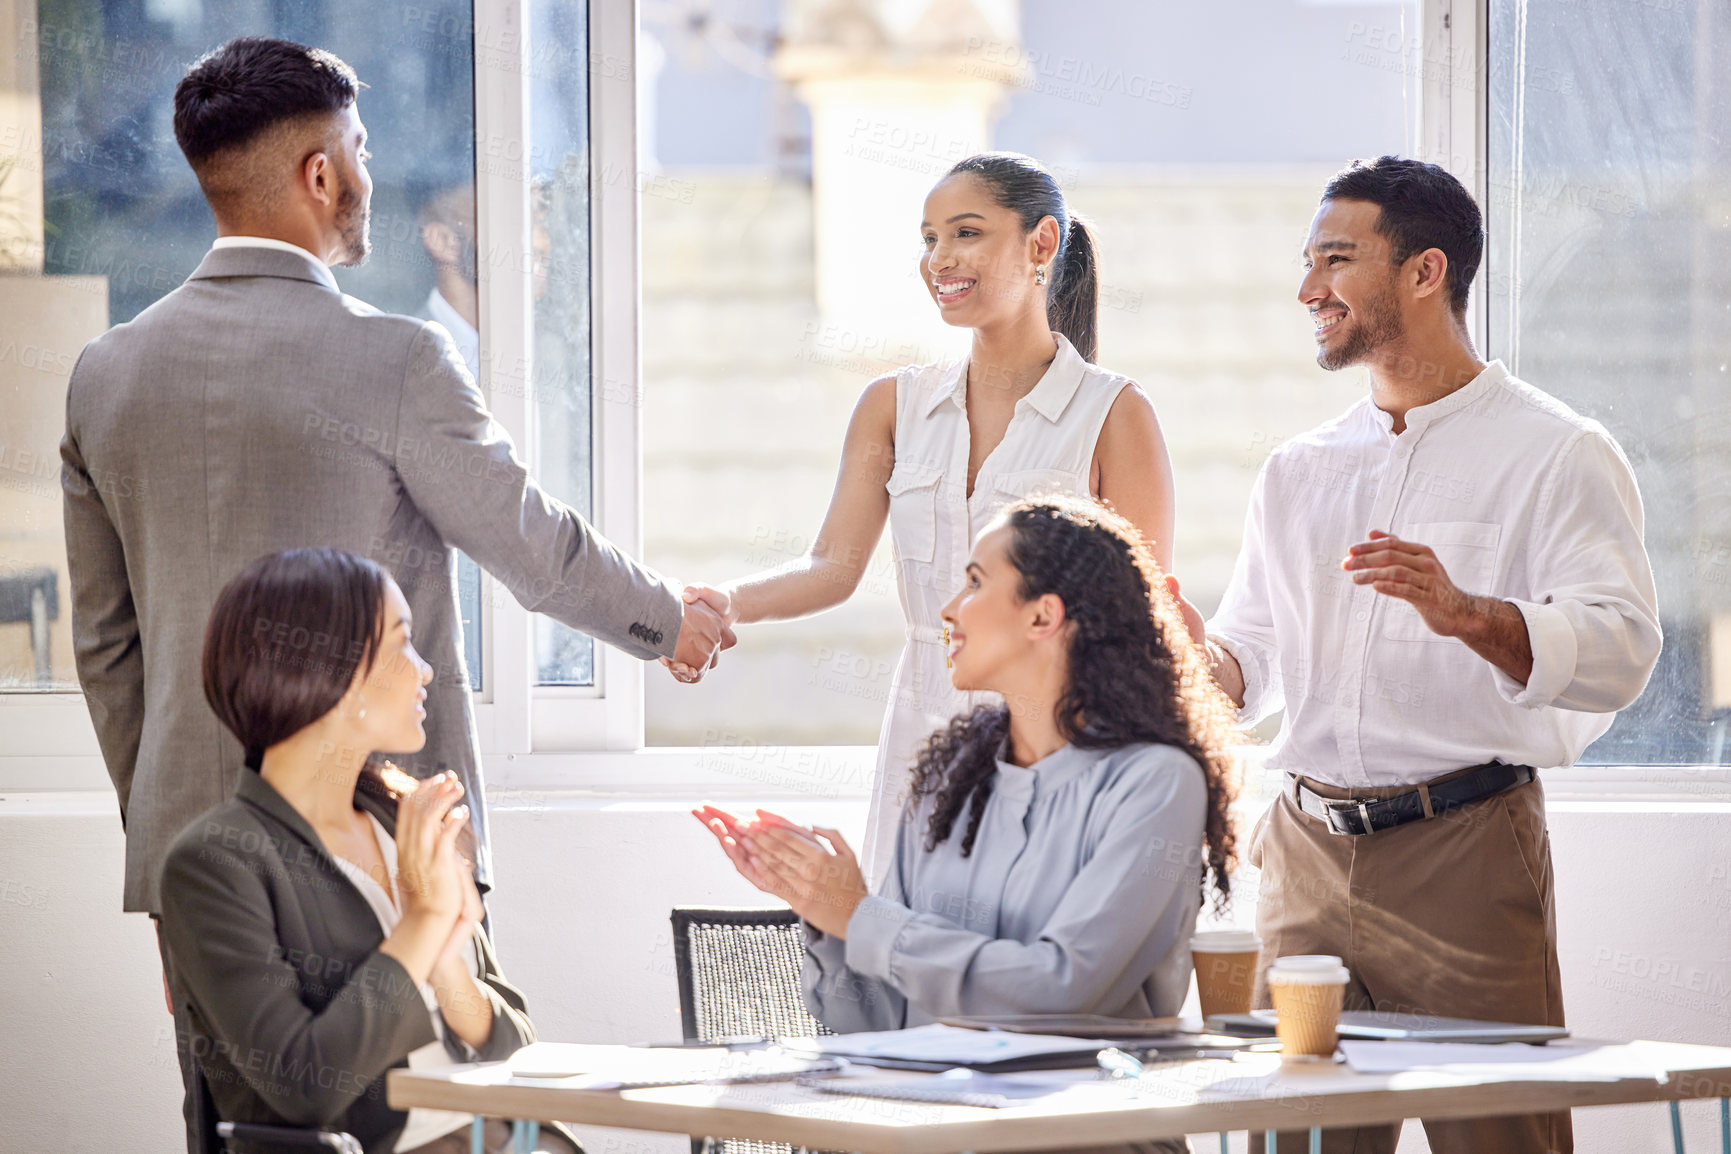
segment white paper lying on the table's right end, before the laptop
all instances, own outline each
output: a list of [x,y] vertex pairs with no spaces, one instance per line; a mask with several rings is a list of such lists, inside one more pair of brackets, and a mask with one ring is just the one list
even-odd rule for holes
[[1478,1042],[1342,1042],[1342,1054],[1361,1074],[1411,1071],[1482,1080],[1532,1081],[1663,1081],[1665,1071],[1624,1045],[1523,1045]]

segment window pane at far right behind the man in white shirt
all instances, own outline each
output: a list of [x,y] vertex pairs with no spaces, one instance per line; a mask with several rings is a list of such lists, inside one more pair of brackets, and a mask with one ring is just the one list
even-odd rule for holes
[[1489,3],[1485,344],[1624,446],[1665,628],[1646,694],[1586,763],[1728,760],[1731,45],[1719,12]]

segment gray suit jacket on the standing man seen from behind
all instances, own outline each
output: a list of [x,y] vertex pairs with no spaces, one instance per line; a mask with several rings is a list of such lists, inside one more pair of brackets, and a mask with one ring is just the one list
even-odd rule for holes
[[242,751],[204,702],[216,592],[253,559],[383,564],[434,668],[428,744],[455,770],[490,875],[452,547],[524,607],[637,657],[672,656],[680,599],[524,472],[450,336],[338,291],[324,265],[211,249],[85,348],[61,443],[73,647],[126,827],[126,910],[159,912],[170,843],[234,792]]

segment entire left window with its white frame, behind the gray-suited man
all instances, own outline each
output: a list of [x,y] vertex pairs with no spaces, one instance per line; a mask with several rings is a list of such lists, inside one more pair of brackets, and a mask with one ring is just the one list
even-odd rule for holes
[[[17,97],[0,100],[0,690],[57,690],[0,697],[9,735],[95,753],[61,535],[66,382],[85,343],[177,287],[209,246],[173,88],[237,35],[327,47],[369,85],[374,253],[336,270],[339,284],[445,324],[545,488],[635,550],[635,403],[595,408],[635,389],[590,386],[635,374],[635,182],[618,180],[632,26],[608,19],[597,36],[602,16],[566,0],[0,5],[0,90]],[[602,218],[620,244],[592,244]],[[601,280],[616,303],[592,308]],[[467,557],[459,604],[483,751],[639,740],[635,659],[533,619]]]

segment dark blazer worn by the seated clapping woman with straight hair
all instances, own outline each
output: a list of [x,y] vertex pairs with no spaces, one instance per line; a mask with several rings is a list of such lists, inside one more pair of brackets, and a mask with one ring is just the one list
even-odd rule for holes
[[[388,830],[396,811],[355,803]],[[384,1071],[438,1035],[421,990],[379,953],[379,919],[282,794],[242,770],[230,801],[175,839],[163,867],[163,939],[180,1045],[190,1045],[222,1121],[346,1130],[396,1145],[407,1114]],[[476,931],[493,1035],[481,1061],[535,1040],[523,995]],[[464,1061],[447,1031],[452,1061]]]

